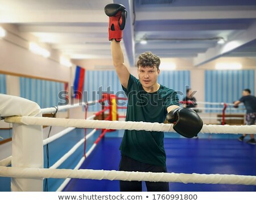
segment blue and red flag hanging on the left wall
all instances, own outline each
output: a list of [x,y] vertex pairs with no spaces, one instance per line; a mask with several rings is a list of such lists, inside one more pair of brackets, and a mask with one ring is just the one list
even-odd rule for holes
[[73,97],[76,99],[82,99],[84,77],[85,77],[85,69],[80,66],[76,66],[75,79],[73,83]]

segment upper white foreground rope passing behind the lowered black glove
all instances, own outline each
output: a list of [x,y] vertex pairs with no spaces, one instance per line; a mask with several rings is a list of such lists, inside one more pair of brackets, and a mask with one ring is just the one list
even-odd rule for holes
[[[52,125],[75,128],[100,128],[115,130],[146,130],[157,132],[174,132],[172,124],[158,122],[134,121],[102,121],[84,119],[59,119],[48,117],[11,116],[6,117],[6,122],[25,125]],[[256,125],[203,125],[200,133],[229,133],[229,134],[254,134]]]

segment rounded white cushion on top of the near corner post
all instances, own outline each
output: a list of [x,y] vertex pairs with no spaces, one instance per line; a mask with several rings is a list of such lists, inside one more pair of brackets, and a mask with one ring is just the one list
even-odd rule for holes
[[38,116],[40,107],[37,103],[18,96],[0,94],[0,116]]

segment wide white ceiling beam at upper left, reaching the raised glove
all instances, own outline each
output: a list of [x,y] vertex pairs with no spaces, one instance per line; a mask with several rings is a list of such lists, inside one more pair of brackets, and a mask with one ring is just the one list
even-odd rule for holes
[[[32,16],[32,17],[31,17]],[[1,10],[0,23],[108,23],[102,10]]]

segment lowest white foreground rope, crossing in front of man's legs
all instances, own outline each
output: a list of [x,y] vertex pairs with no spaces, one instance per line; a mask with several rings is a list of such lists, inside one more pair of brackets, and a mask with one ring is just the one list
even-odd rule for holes
[[256,185],[256,176],[226,174],[175,174],[155,172],[127,172],[105,170],[71,170],[47,168],[20,168],[0,166],[0,176],[26,178],[76,178],[93,180],[154,181],[175,183],[243,184]]

